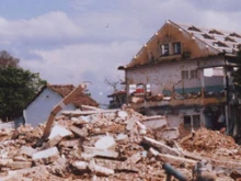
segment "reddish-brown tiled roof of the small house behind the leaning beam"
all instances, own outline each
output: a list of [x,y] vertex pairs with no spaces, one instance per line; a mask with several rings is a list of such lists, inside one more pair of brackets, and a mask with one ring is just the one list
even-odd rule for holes
[[[47,88],[51,89],[54,92],[57,92],[62,98],[65,98],[74,89],[74,86],[72,84],[47,84]],[[77,108],[80,108],[81,105],[99,106],[99,103],[96,101],[94,101],[91,97],[84,94],[83,92],[80,92],[78,95],[72,98],[71,102]]]

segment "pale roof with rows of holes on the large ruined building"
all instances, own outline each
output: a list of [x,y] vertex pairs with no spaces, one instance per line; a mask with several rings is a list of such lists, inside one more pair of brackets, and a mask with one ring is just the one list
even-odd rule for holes
[[[185,34],[188,34],[186,37],[192,37],[193,39],[196,39],[200,44],[204,44],[206,47],[209,47],[209,49],[213,49],[213,55],[220,55],[220,53],[227,53],[231,54],[233,56],[237,55],[237,52],[239,49],[239,46],[241,44],[241,33],[238,32],[227,32],[227,31],[220,31],[216,29],[203,29],[194,25],[187,25],[187,24],[179,24],[174,23],[172,21],[167,21],[165,24],[171,24],[174,27],[179,29],[179,31],[185,32]],[[165,24],[162,26],[164,27]],[[161,32],[162,27],[156,33],[148,42],[147,44],[151,43],[153,39],[158,38],[159,32]],[[136,66],[147,65],[149,63],[141,63],[138,58],[145,54],[147,44],[145,44],[140,50],[137,53],[136,56],[134,56],[133,60],[126,65],[120,66],[118,69],[126,69],[126,68],[133,68]]]

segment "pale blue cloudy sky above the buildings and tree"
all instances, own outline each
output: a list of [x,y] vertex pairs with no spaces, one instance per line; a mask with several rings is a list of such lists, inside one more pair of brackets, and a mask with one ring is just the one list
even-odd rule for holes
[[128,64],[171,20],[241,33],[240,0],[1,0],[0,50],[51,84],[88,82],[106,104]]

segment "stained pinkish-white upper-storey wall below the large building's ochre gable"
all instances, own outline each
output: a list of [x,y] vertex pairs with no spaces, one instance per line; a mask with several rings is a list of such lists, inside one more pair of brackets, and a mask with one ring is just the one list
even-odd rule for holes
[[[145,83],[150,84],[152,94],[163,93],[164,90],[174,89],[176,92],[184,90],[185,92],[198,92],[200,91],[200,73],[198,70],[198,77],[195,79],[184,79],[182,80],[181,72],[187,70],[191,73],[191,70],[198,68],[198,61],[200,60],[185,60],[185,61],[175,61],[175,63],[165,63],[156,66],[149,66],[138,69],[128,69],[126,71],[127,83],[128,84],[138,84]],[[209,77],[205,78],[205,87],[223,87],[222,77]]]

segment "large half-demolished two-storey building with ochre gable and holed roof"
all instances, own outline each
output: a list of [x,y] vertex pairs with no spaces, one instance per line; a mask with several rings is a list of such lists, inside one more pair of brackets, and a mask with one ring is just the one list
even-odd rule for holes
[[232,72],[241,35],[167,21],[125,71],[127,103],[147,115],[161,114],[171,126],[227,127],[237,136],[241,97]]

